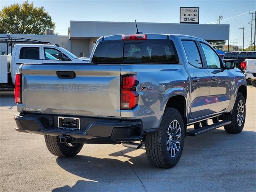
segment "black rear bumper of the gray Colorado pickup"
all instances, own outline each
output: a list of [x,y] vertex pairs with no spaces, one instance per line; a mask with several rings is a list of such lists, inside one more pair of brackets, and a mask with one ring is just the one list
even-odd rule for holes
[[81,129],[64,131],[58,128],[58,116],[16,114],[14,119],[19,132],[47,134],[52,136],[70,136],[72,138],[101,138],[113,141],[142,140],[142,123],[140,121],[122,121],[81,117]]

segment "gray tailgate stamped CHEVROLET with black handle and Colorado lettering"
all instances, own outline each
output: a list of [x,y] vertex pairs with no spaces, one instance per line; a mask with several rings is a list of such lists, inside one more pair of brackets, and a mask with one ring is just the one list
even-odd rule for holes
[[[118,118],[120,67],[92,64],[23,65],[22,109],[45,114]],[[74,74],[73,77],[70,74]]]

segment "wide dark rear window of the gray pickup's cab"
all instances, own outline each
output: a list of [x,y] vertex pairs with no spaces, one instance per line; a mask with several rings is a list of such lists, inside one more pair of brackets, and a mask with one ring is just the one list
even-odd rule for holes
[[171,40],[113,40],[99,42],[92,62],[177,64],[179,60]]

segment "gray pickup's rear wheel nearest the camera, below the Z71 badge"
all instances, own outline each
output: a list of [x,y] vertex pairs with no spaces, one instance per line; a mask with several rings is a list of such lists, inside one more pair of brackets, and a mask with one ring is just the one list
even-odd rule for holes
[[146,154],[150,163],[159,168],[172,168],[182,155],[184,123],[180,112],[166,108],[157,133],[146,135]]

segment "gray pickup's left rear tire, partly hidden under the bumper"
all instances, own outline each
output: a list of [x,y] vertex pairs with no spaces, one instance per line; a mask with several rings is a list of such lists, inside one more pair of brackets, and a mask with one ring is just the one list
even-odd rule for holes
[[44,140],[48,150],[58,157],[76,156],[84,145],[80,143],[61,143],[58,136],[44,135]]

